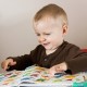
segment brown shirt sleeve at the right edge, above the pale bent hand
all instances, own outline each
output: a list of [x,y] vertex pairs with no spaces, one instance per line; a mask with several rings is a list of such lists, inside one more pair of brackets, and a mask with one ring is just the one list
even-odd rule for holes
[[[70,53],[72,51],[70,51]],[[67,64],[67,70],[71,71],[71,74],[87,71],[87,52],[83,52],[80,49],[74,47],[73,53],[70,55],[70,60],[65,62]]]

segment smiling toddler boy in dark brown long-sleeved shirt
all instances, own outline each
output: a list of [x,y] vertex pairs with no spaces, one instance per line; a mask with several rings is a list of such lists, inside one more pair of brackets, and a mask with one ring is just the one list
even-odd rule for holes
[[87,71],[87,53],[64,40],[69,22],[61,7],[44,7],[35,14],[33,24],[40,45],[29,54],[5,59],[1,64],[4,70],[24,70],[37,64],[48,67],[52,76],[62,72],[75,74]]

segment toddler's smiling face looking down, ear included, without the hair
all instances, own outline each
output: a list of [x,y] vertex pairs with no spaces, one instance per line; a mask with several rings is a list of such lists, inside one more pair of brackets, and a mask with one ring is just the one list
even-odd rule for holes
[[63,35],[66,33],[66,27],[63,26],[61,20],[45,17],[34,23],[35,33],[38,41],[46,50],[54,50],[63,42]]

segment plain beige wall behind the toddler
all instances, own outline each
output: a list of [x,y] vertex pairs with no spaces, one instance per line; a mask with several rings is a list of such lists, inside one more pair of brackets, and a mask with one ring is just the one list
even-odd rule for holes
[[38,45],[33,17],[48,3],[62,7],[67,13],[65,40],[87,48],[87,0],[0,0],[0,63],[8,57],[29,53]]

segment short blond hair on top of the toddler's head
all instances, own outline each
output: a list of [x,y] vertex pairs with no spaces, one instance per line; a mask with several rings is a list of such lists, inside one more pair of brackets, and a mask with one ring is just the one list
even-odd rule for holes
[[44,18],[45,16],[52,16],[53,18],[61,17],[63,23],[65,23],[66,25],[69,24],[67,15],[66,15],[65,11],[57,4],[48,4],[48,5],[44,7],[42,9],[40,9],[35,14],[34,21],[38,22],[39,20]]

